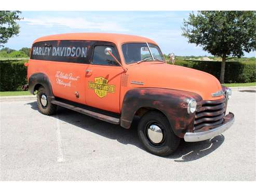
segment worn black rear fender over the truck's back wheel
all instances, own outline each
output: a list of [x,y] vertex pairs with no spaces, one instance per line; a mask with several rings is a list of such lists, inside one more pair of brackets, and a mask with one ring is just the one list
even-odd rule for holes
[[51,83],[48,76],[44,73],[34,73],[29,77],[29,91],[34,94],[35,86],[41,84],[46,88],[47,98],[53,100],[55,97],[52,93]]

